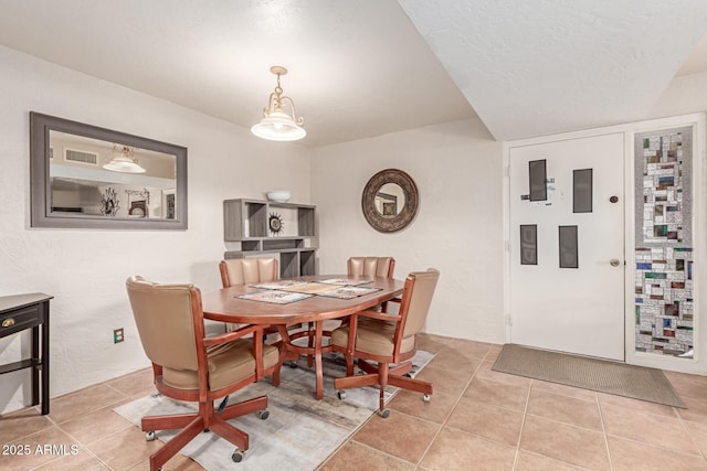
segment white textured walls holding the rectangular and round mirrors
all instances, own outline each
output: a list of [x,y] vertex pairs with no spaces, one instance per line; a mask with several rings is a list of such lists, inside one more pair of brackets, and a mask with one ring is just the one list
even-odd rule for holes
[[[674,81],[651,117],[707,109],[706,88],[707,73]],[[52,396],[146,366],[125,278],[217,289],[222,200],[262,199],[272,189],[317,204],[320,272],[344,272],[351,255],[392,255],[400,278],[434,266],[442,278],[426,330],[503,343],[503,152],[477,120],[313,152],[1,46],[0,96],[0,296],[55,297]],[[30,110],[187,147],[189,231],[30,228]],[[416,220],[389,235],[368,226],[360,207],[367,181],[386,168],[410,173],[420,191]],[[119,327],[126,341],[114,345]],[[0,363],[27,356],[29,346],[27,334],[0,340]],[[29,385],[27,371],[3,375],[0,414],[22,407]]]

